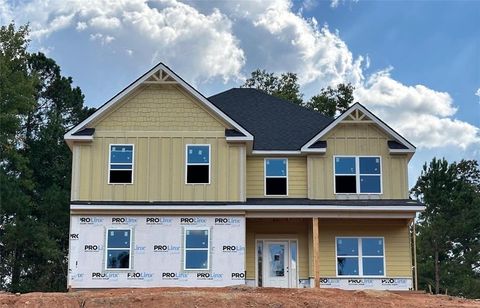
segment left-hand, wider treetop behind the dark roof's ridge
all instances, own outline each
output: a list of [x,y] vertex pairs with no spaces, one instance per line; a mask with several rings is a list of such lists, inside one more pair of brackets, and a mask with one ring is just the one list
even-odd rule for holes
[[302,105],[303,94],[300,93],[298,77],[294,73],[284,73],[276,76],[265,70],[255,70],[251,77],[242,85],[242,88],[254,88],[263,92],[285,99],[297,105]]

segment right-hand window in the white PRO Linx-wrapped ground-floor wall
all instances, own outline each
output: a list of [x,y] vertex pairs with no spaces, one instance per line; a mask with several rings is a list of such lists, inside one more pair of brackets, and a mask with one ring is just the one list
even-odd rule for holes
[[185,230],[185,269],[208,270],[210,263],[209,254],[209,229]]

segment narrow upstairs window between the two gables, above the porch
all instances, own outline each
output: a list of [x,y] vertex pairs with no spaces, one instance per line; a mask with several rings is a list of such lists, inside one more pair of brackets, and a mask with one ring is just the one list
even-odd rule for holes
[[265,195],[286,196],[288,194],[288,162],[286,158],[265,159]]

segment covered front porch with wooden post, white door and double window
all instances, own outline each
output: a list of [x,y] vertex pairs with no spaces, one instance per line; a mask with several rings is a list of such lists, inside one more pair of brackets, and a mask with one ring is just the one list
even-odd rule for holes
[[[410,223],[385,217],[247,218],[246,284],[412,290]],[[348,243],[353,248],[343,256]]]

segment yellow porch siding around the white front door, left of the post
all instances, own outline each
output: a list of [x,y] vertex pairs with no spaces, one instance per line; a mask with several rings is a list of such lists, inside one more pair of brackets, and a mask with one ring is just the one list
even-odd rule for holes
[[255,279],[257,239],[298,240],[298,278],[308,279],[308,226],[305,219],[247,219],[245,256],[247,279]]

